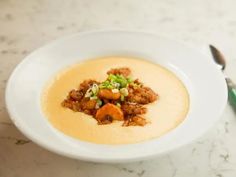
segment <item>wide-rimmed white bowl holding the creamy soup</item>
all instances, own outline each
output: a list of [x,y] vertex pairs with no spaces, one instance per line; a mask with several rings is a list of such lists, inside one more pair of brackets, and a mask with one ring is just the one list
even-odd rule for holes
[[[62,68],[105,55],[138,56],[173,71],[190,95],[190,110],[185,121],[161,138],[129,145],[83,142],[53,128],[41,110],[40,97],[45,83]],[[219,119],[226,105],[227,87],[221,71],[211,60],[199,51],[153,34],[80,33],[36,50],[16,67],[7,84],[7,108],[12,121],[25,136],[61,155],[114,163],[155,157],[196,140]]]

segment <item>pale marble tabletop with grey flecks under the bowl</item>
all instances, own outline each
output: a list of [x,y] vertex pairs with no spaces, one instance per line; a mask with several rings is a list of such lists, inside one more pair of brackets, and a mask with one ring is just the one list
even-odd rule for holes
[[4,102],[7,79],[29,52],[94,29],[138,29],[196,48],[212,43],[224,52],[226,72],[236,81],[235,7],[235,0],[0,0],[0,177],[236,176],[236,114],[229,105],[221,120],[188,146],[152,160],[98,164],[32,143],[12,124]]

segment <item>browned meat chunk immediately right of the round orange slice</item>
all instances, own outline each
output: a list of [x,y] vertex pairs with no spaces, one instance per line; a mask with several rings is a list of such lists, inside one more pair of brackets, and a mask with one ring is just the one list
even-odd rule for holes
[[147,112],[147,108],[143,107],[140,104],[136,103],[124,103],[121,105],[121,110],[123,111],[125,117],[135,116],[137,114],[145,114]]

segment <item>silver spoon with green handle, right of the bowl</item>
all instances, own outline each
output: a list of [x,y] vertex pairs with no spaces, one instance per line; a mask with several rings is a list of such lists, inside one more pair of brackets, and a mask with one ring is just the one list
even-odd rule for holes
[[[218,67],[222,71],[224,71],[224,69],[226,67],[226,60],[225,60],[224,56],[213,45],[210,45],[209,47],[210,47],[212,56],[213,56],[216,64],[218,65]],[[226,83],[227,83],[227,86],[228,86],[228,99],[229,99],[229,102],[233,106],[233,108],[236,110],[236,85],[227,76],[225,76],[225,80],[226,80]]]

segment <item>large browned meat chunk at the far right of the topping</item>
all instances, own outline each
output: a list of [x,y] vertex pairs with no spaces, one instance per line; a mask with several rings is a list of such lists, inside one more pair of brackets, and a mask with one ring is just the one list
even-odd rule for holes
[[149,87],[130,86],[128,90],[129,95],[126,99],[129,102],[148,104],[157,100],[157,94]]

